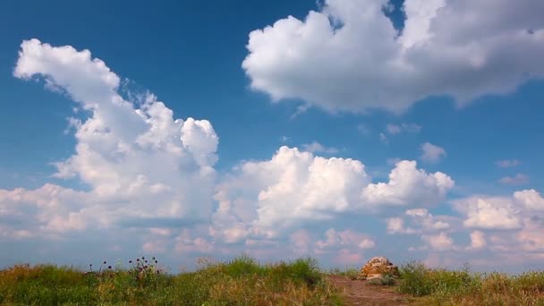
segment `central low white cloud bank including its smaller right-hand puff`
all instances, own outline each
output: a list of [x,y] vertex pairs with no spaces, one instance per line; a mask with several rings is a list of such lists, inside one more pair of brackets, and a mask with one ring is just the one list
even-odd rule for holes
[[358,160],[282,147],[270,160],[242,163],[222,180],[210,233],[225,242],[276,237],[343,214],[436,205],[453,186],[446,174],[427,174],[413,161],[398,162],[389,182],[371,183]]

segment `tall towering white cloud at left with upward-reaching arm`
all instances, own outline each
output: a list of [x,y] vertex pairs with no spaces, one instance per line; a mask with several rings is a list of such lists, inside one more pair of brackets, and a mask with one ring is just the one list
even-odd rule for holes
[[52,184],[0,191],[4,216],[51,233],[183,226],[209,217],[218,142],[211,123],[174,119],[150,93],[124,99],[120,78],[89,50],[25,40],[13,75],[43,80],[87,111],[71,120],[75,153],[55,163],[55,177],[78,178],[89,191]]

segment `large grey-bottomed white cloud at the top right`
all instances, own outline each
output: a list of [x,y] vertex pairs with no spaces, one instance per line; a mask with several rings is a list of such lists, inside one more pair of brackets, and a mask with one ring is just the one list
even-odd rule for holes
[[400,33],[386,4],[325,0],[304,21],[252,31],[242,63],[251,88],[333,112],[402,112],[433,95],[463,104],[544,77],[540,1],[406,0]]

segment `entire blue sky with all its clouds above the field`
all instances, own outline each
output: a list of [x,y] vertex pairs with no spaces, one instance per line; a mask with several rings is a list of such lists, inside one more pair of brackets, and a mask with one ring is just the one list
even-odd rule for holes
[[0,267],[541,267],[543,14],[3,1]]

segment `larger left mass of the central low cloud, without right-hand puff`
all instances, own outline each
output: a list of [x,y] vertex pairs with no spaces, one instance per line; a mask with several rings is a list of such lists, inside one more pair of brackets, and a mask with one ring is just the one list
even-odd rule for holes
[[[219,228],[254,225],[254,231],[271,235],[302,220],[327,220],[353,210],[361,205],[361,190],[369,183],[360,161],[314,157],[282,147],[268,161],[236,167],[220,183],[216,199],[221,207],[214,223]],[[237,203],[243,208],[235,208]],[[248,211],[254,213],[250,216]],[[219,233],[225,233],[225,228]]]

